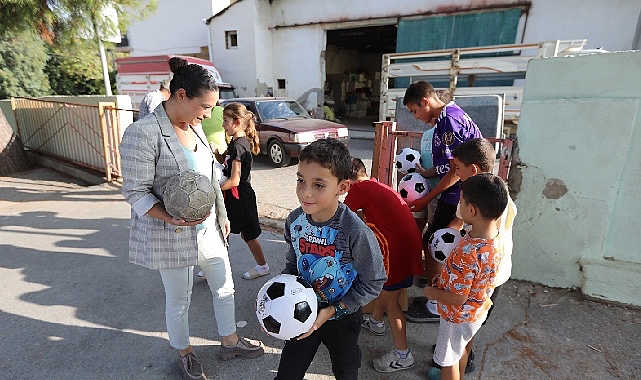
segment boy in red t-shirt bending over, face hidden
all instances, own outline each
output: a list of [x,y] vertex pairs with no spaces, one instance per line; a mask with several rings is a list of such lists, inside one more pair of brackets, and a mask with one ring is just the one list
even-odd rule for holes
[[383,335],[383,314],[386,313],[392,330],[394,347],[374,359],[374,369],[393,372],[411,368],[414,358],[407,346],[405,314],[398,304],[398,297],[404,288],[412,286],[414,276],[423,273],[421,233],[403,198],[391,187],[375,178],[370,179],[363,161],[358,158],[352,157],[349,182],[344,203],[352,211],[360,210],[364,215],[365,223],[381,247],[387,273],[383,290],[374,300],[374,311],[363,317],[364,328]]

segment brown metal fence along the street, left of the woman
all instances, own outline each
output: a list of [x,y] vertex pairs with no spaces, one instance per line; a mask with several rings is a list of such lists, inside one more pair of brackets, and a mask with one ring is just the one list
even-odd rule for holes
[[121,139],[116,104],[98,105],[12,98],[16,126],[25,148],[119,177]]

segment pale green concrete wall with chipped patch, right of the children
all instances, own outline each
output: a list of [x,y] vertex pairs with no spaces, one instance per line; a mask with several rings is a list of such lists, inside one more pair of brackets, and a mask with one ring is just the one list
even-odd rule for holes
[[641,305],[640,88],[639,51],[530,61],[513,278]]

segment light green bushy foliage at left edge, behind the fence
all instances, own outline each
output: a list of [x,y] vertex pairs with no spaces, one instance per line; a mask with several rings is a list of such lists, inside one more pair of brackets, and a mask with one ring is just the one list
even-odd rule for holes
[[0,39],[0,99],[51,94],[44,42],[31,32]]

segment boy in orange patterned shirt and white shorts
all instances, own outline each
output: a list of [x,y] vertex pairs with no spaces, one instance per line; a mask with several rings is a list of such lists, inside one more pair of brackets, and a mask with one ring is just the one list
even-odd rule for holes
[[494,238],[496,221],[508,203],[505,182],[483,173],[461,183],[460,209],[463,221],[472,226],[423,293],[438,301],[440,324],[430,380],[460,379],[465,372],[470,341],[487,318],[490,296],[496,286],[496,273],[502,250]]

